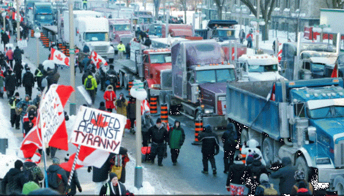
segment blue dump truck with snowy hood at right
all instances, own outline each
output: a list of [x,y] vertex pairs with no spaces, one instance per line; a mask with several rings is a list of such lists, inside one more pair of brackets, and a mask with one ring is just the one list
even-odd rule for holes
[[240,142],[256,139],[267,164],[288,156],[344,194],[343,79],[227,82],[226,105]]

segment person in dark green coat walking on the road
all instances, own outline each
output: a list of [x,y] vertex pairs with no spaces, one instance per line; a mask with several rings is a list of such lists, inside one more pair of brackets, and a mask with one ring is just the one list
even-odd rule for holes
[[175,121],[172,130],[169,131],[169,146],[171,148],[171,159],[173,165],[177,165],[177,158],[179,155],[180,147],[183,145],[185,140],[184,129],[180,127],[180,122]]

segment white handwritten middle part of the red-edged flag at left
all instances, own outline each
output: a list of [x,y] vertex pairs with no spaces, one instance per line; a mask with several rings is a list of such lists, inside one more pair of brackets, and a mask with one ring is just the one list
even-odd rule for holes
[[49,143],[64,120],[62,103],[56,92],[57,86],[57,84],[50,86],[49,91],[42,98],[39,108],[42,140],[46,144]]

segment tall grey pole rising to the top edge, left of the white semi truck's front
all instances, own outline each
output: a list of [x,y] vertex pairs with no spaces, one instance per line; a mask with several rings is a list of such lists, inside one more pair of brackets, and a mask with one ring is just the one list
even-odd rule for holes
[[[75,89],[74,76],[74,17],[73,0],[69,0],[69,67],[70,67],[70,85]],[[76,115],[75,91],[70,95],[69,115]]]

